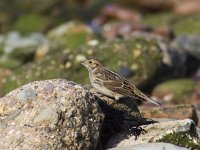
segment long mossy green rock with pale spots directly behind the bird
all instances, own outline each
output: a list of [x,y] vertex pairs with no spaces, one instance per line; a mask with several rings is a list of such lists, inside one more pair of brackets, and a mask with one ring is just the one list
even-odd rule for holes
[[80,62],[87,57],[101,60],[135,84],[149,80],[162,62],[162,52],[155,40],[142,37],[108,43],[90,40],[84,47],[50,53],[41,61],[16,70],[5,80],[3,92],[7,93],[31,81],[50,78],[67,78],[86,83],[88,72]]

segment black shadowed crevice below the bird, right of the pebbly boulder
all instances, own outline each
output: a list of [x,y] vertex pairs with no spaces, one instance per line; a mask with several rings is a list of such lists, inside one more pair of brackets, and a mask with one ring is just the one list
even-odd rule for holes
[[123,134],[124,138],[134,135],[137,139],[141,134],[146,133],[141,128],[141,125],[156,123],[154,120],[142,118],[132,98],[122,98],[113,104],[108,104],[107,101],[97,96],[96,99],[102,112],[105,114],[97,150],[107,148],[109,139],[118,134]]

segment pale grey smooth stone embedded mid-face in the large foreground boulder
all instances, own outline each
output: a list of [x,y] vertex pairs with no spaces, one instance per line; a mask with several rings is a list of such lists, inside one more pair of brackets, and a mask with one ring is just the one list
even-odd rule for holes
[[43,109],[35,118],[34,123],[49,121],[52,125],[58,122],[58,114],[51,107]]

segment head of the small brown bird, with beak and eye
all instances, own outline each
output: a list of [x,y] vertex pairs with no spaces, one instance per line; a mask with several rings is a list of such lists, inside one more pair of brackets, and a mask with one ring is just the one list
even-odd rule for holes
[[99,67],[103,67],[103,64],[96,59],[87,59],[83,61],[81,64],[85,66],[88,69],[88,71],[94,71]]

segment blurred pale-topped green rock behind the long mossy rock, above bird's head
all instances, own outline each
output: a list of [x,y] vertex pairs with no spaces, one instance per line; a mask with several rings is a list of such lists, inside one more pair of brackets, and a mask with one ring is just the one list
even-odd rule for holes
[[92,28],[78,21],[69,21],[61,24],[50,30],[47,36],[56,51],[63,50],[63,48],[78,48],[95,38]]

